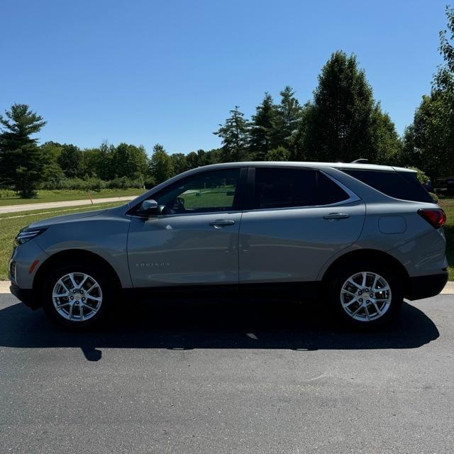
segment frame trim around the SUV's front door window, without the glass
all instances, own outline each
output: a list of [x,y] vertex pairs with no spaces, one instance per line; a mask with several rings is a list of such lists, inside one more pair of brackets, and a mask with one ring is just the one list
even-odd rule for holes
[[[153,200],[153,199],[155,199],[155,197],[158,194],[165,192],[165,191],[169,190],[171,187],[177,186],[178,184],[182,184],[182,183],[186,182],[188,179],[192,179],[194,177],[200,177],[201,175],[206,175],[206,174],[213,173],[213,172],[221,172],[222,170],[235,170],[235,169],[240,170],[240,175],[238,177],[238,187],[236,189],[236,190],[238,190],[238,202],[237,202],[238,206],[232,206],[231,210],[202,211],[202,212],[195,212],[195,213],[155,214],[153,216],[137,214],[137,211],[138,211],[140,205],[143,203],[143,201]],[[154,192],[153,194],[150,194],[150,196],[148,196],[146,199],[143,199],[142,201],[140,201],[140,203],[133,206],[131,209],[129,209],[126,212],[126,216],[129,216],[131,218],[149,219],[149,218],[169,218],[169,217],[175,217],[175,216],[197,216],[197,215],[204,215],[204,214],[241,213],[244,210],[244,204],[245,204],[247,170],[248,170],[248,167],[226,167],[224,169],[219,169],[219,170],[208,170],[208,171],[204,171],[204,172],[197,172],[197,173],[194,173],[193,175],[188,175],[187,177],[177,179],[177,181],[167,184],[167,186],[163,187],[162,189],[160,189],[157,192]]]

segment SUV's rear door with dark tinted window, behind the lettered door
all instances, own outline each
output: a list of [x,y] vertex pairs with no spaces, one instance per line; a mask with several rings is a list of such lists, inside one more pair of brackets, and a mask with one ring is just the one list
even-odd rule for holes
[[355,243],[365,204],[318,170],[250,169],[250,209],[240,227],[240,283],[316,280],[323,264]]

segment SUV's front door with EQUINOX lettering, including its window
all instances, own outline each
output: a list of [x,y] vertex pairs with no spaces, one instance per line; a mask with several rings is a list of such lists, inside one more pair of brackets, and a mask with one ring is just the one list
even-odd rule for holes
[[128,262],[134,287],[238,284],[242,178],[240,168],[201,172],[154,194],[155,216],[133,214]]

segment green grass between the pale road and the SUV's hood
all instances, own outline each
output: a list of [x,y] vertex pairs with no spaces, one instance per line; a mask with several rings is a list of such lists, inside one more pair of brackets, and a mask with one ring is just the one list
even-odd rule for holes
[[0,280],[8,279],[8,264],[13,250],[13,240],[18,231],[28,224],[41,219],[64,214],[92,211],[96,209],[111,208],[121,204],[96,204],[94,206],[83,206],[82,208],[57,208],[51,210],[21,211],[19,213],[5,213],[0,215]]

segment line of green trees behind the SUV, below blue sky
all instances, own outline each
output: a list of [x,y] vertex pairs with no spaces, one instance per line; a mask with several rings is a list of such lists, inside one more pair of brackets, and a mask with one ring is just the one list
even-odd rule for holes
[[444,64],[434,74],[414,121],[399,137],[392,119],[373,96],[355,55],[333,52],[321,69],[313,99],[301,103],[292,87],[275,101],[265,93],[250,118],[239,106],[214,134],[221,148],[167,153],[156,144],[73,144],[31,138],[45,126],[25,104],[0,116],[0,187],[24,197],[36,189],[152,187],[185,170],[217,162],[247,160],[342,161],[358,158],[385,165],[416,166],[434,181],[454,175],[454,11],[446,8],[448,30],[440,32]]

